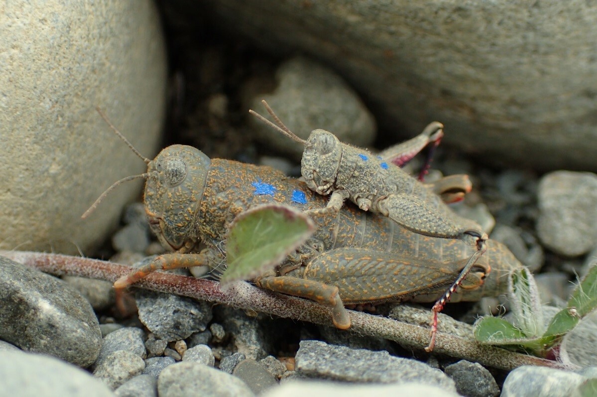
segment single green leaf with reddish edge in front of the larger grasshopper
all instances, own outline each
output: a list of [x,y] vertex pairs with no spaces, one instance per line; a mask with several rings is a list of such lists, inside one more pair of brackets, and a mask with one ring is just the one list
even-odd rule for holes
[[226,236],[227,269],[220,282],[254,278],[282,263],[315,232],[309,216],[281,204],[264,204],[239,214]]

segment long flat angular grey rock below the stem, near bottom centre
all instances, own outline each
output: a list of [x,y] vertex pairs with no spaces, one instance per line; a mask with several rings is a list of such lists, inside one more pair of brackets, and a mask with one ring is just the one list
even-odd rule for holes
[[454,381],[442,371],[414,359],[303,340],[295,356],[298,374],[310,378],[374,383],[432,383],[456,392]]

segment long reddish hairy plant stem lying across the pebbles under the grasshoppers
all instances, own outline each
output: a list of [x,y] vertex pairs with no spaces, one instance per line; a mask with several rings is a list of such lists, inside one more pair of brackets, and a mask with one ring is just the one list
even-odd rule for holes
[[[53,275],[82,276],[110,282],[116,281],[122,275],[133,270],[133,267],[130,266],[61,254],[0,251],[0,256],[5,256]],[[254,310],[333,327],[330,311],[326,307],[306,299],[262,290],[247,282],[236,282],[223,291],[218,282],[170,273],[152,273],[138,282],[135,287],[229,304],[239,309]],[[402,346],[420,349],[421,352],[429,343],[428,328],[352,310],[349,313],[352,322],[350,330],[354,333],[383,337],[396,341]],[[476,341],[442,333],[438,333],[433,353],[442,353],[503,370],[512,370],[521,365],[573,369],[560,362],[510,352],[498,347],[485,346]]]

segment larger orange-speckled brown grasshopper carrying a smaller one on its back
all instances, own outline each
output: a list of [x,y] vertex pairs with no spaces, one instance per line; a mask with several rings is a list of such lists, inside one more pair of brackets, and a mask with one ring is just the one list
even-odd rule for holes
[[[190,146],[168,146],[155,159],[143,159],[147,173],[137,177],[146,179],[144,204],[150,227],[175,252],[119,279],[116,288],[158,269],[220,266],[227,227],[248,208],[276,202],[309,211],[326,201],[303,181],[273,168],[210,159]],[[84,216],[117,184],[132,178],[113,184]],[[460,240],[413,233],[387,217],[352,205],[314,220],[317,229],[306,244],[275,270],[252,281],[261,288],[329,307],[334,325],[341,329],[350,327],[344,304],[435,301],[474,250]],[[208,248],[198,251],[199,242]],[[473,265],[453,301],[476,301],[506,291],[504,276],[521,264],[500,243],[488,241],[487,247],[487,254]]]

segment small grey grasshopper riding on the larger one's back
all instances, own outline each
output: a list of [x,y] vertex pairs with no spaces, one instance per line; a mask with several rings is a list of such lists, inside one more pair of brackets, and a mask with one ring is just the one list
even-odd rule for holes
[[[261,102],[277,125],[254,110],[249,112],[285,136],[303,144],[301,174],[307,186],[320,195],[331,194],[325,208],[309,210],[310,214],[318,216],[323,213],[338,213],[344,201],[350,199],[361,210],[389,217],[411,232],[461,239],[476,247],[476,252],[470,256],[450,288],[433,306],[432,335],[435,336],[438,312],[441,312],[475,262],[487,250],[487,233],[474,221],[457,216],[441,198],[400,167],[388,165],[383,156],[374,156],[368,150],[343,144],[334,134],[325,130],[313,130],[307,140],[300,139],[282,123],[266,101]],[[427,141],[439,142],[443,136],[442,128],[441,123],[433,122],[421,136],[427,137]],[[397,154],[393,150],[384,152],[385,156],[401,159],[400,152]],[[405,153],[407,159],[409,156],[410,153]],[[423,167],[420,177],[425,168]]]

